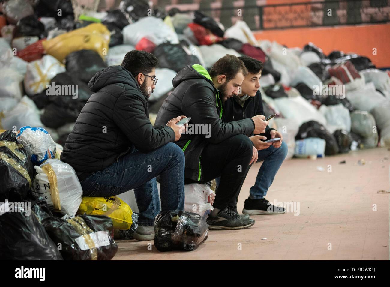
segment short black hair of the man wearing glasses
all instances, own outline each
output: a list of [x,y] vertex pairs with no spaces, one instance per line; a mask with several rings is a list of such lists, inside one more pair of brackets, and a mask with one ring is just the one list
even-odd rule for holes
[[128,70],[134,78],[139,73],[148,74],[158,64],[158,58],[147,51],[133,50],[124,56],[122,67]]

